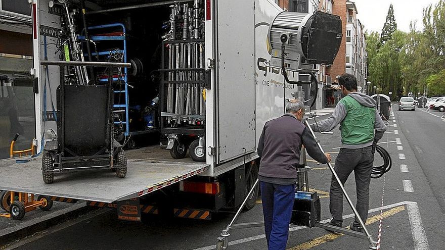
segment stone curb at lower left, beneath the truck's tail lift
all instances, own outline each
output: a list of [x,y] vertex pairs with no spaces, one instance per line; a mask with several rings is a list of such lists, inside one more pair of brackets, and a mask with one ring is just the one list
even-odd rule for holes
[[95,209],[94,207],[87,206],[85,202],[82,202],[59,211],[54,211],[51,214],[25,221],[17,226],[0,230],[0,248],[14,240],[32,235],[38,231],[57,225],[60,222],[74,219],[79,215]]

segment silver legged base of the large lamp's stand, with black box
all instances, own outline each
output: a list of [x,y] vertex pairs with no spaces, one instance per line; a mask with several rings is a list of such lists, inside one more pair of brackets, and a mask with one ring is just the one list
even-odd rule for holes
[[[314,131],[309,126],[307,119],[305,119],[304,122],[306,124],[306,127],[309,129],[310,133],[316,139],[318,147],[324,154],[325,152],[323,151],[320,141],[317,139]],[[305,153],[304,147],[302,147],[301,155],[305,156],[305,154],[306,153]],[[349,198],[349,195],[346,193],[346,190],[344,189],[343,184],[341,184],[341,181],[338,178],[337,173],[335,172],[334,168],[332,167],[332,165],[330,163],[328,163],[329,169],[331,170],[331,172],[332,172],[333,176],[335,177],[335,179],[337,180],[337,182],[340,184],[341,191],[343,192],[343,195],[346,197],[346,200],[347,200],[349,206],[351,207],[352,211],[354,212],[356,218],[359,220],[360,225],[363,227],[364,232],[363,233],[356,232],[353,230],[348,230],[345,228],[336,227],[336,226],[332,226],[332,225],[320,222],[320,220],[321,220],[321,218],[320,218],[321,217],[320,216],[321,215],[320,198],[319,198],[317,192],[309,192],[309,190],[308,190],[309,185],[308,185],[307,171],[310,170],[311,168],[305,167],[306,166],[305,164],[306,164],[306,159],[305,159],[305,157],[302,157],[302,160],[300,161],[300,165],[304,166],[304,167],[299,168],[298,172],[297,172],[298,185],[297,185],[297,190],[295,192],[295,202],[294,202],[294,207],[292,209],[291,224],[298,225],[298,226],[307,226],[309,228],[320,227],[320,228],[323,228],[323,229],[326,229],[329,231],[343,233],[343,234],[347,234],[347,235],[350,235],[353,237],[368,239],[369,240],[369,249],[377,249],[377,242],[374,241],[373,237],[371,236],[368,229],[366,228],[365,223],[363,222],[362,218],[360,217],[357,209],[355,209],[355,207],[353,206],[351,199]],[[306,192],[302,191],[303,180],[306,182],[305,183],[306,184],[305,185]],[[249,193],[247,194],[247,197],[250,197],[250,195],[252,194],[256,185],[258,185],[258,182],[259,181],[257,179],[255,181],[255,183],[253,184],[252,188],[250,189]],[[298,189],[300,189],[300,190],[298,190]],[[217,238],[217,242],[216,242],[216,250],[228,249],[228,246],[229,246],[228,237],[230,236],[231,229],[264,226],[264,222],[262,222],[262,221],[261,222],[234,224],[234,222],[240,215],[241,211],[243,210],[246,201],[247,201],[247,198],[244,199],[243,204],[240,206],[240,208],[238,209],[237,213],[235,214],[234,218],[229,223],[229,225],[227,225],[227,227],[224,230],[222,230],[222,232],[220,233],[219,237]]]

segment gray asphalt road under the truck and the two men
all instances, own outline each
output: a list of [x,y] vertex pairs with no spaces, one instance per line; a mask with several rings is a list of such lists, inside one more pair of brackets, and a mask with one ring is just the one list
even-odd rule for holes
[[[445,119],[443,113],[428,114],[397,111],[389,119],[388,130],[380,141],[392,158],[392,169],[382,178],[371,181],[368,230],[381,249],[443,249],[445,199]],[[339,151],[340,134],[319,135],[326,152],[335,157]],[[310,188],[319,190],[322,220],[329,220],[329,183],[327,166],[308,158]],[[376,156],[375,165],[381,164]],[[355,201],[355,184],[351,175],[345,188]],[[237,222],[262,220],[258,202],[243,213]],[[383,209],[381,206],[383,205]],[[344,215],[351,214],[344,204]],[[215,216],[212,221],[162,219],[144,217],[141,223],[117,220],[114,211],[99,210],[79,219],[62,223],[47,231],[15,242],[17,249],[213,249],[220,231],[233,215]],[[346,218],[348,226],[352,218]],[[379,235],[379,226],[381,234]],[[288,249],[368,249],[368,241],[347,235],[334,235],[321,228],[291,226]],[[233,230],[228,249],[265,249],[262,228]]]

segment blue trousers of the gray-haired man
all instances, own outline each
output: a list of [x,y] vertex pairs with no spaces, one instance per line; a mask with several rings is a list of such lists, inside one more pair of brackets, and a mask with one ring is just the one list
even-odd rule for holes
[[264,231],[269,250],[285,250],[295,199],[295,184],[260,181]]

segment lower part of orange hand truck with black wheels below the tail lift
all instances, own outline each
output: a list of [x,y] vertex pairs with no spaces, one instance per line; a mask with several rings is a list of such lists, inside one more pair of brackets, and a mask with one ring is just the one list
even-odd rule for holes
[[[9,195],[9,197],[8,197]],[[0,207],[7,213],[0,213],[0,217],[21,220],[25,213],[39,208],[42,211],[49,211],[53,207],[53,200],[49,196],[38,195],[34,199],[34,194],[26,192],[2,191],[0,192],[2,201]]]

